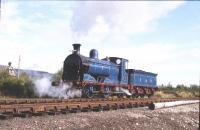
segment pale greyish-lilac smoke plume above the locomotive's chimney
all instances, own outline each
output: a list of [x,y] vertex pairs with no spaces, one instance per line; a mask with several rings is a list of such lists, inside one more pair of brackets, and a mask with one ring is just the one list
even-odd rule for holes
[[113,2],[79,2],[73,8],[71,28],[78,34],[87,34],[99,16],[112,23],[111,15],[117,12]]

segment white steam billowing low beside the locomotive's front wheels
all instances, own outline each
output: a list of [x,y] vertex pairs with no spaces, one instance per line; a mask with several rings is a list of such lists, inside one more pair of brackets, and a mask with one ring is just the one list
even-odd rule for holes
[[73,98],[73,97],[81,97],[81,90],[72,89],[72,86],[67,84],[52,86],[49,78],[38,79],[34,82],[34,90],[35,93],[39,97],[50,96],[56,98]]

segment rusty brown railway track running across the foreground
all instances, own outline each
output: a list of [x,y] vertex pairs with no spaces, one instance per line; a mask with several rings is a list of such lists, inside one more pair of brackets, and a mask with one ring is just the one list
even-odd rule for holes
[[112,99],[1,99],[0,119],[12,117],[116,110],[149,106],[151,103],[192,100],[183,98],[112,98]]

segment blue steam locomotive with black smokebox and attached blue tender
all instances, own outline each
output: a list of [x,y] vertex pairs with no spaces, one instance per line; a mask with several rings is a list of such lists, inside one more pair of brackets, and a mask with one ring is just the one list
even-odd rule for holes
[[128,60],[120,57],[98,58],[92,49],[89,57],[80,54],[81,44],[73,44],[73,53],[63,65],[62,80],[80,89],[82,96],[152,96],[157,89],[157,74],[128,69]]

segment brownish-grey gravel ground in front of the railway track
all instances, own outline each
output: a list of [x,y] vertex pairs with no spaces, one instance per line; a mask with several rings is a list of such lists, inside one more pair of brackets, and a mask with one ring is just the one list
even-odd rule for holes
[[0,130],[199,130],[199,104],[0,120]]

